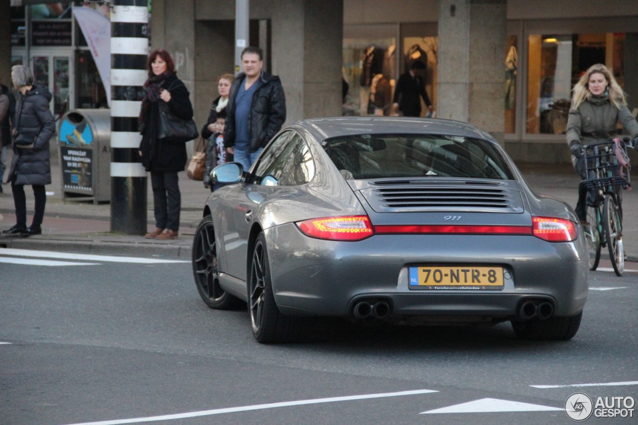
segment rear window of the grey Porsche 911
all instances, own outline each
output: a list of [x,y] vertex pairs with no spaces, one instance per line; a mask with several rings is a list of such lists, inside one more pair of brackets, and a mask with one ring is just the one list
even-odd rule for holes
[[359,134],[322,142],[347,178],[463,177],[511,180],[493,143],[440,134]]

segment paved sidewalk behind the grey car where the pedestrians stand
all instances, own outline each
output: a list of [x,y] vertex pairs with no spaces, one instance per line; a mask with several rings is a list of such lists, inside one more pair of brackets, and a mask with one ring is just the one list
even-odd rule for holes
[[[578,198],[579,177],[568,164],[518,164],[531,188],[540,193],[564,199],[575,206]],[[179,238],[170,241],[145,239],[144,236],[110,233],[110,204],[94,204],[92,201],[63,201],[61,170],[57,158],[52,158],[52,184],[47,185],[47,206],[45,209],[42,234],[29,238],[0,236],[0,247],[15,249],[57,250],[82,252],[85,254],[140,254],[144,256],[182,257],[189,259],[195,229],[202,219],[202,210],[210,194],[202,182],[179,173],[179,187],[182,193],[182,212]],[[148,230],[155,226],[152,206],[151,179],[148,178]],[[107,182],[110,184],[110,182]],[[0,229],[8,229],[15,224],[15,209],[10,185],[3,185],[0,194]],[[27,192],[27,225],[33,214],[33,194]],[[623,241],[628,261],[638,261],[638,189],[623,192]],[[603,257],[609,257],[607,250]]]

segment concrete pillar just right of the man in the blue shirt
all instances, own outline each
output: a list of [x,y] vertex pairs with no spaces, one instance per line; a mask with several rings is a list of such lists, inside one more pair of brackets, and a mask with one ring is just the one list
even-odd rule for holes
[[272,10],[272,73],[286,93],[286,123],[341,116],[343,0],[281,0]]

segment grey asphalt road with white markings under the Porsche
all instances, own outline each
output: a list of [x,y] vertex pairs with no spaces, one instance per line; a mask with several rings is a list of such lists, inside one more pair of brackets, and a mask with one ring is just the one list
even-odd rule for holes
[[260,345],[244,310],[204,305],[189,263],[23,254],[0,249],[2,424],[567,424],[572,393],[638,398],[635,263],[591,273],[570,342],[322,320]]

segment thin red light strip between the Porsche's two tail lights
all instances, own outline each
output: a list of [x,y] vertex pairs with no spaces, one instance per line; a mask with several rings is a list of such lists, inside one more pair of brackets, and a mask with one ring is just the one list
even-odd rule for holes
[[531,226],[472,226],[472,225],[381,225],[376,234],[532,234]]

